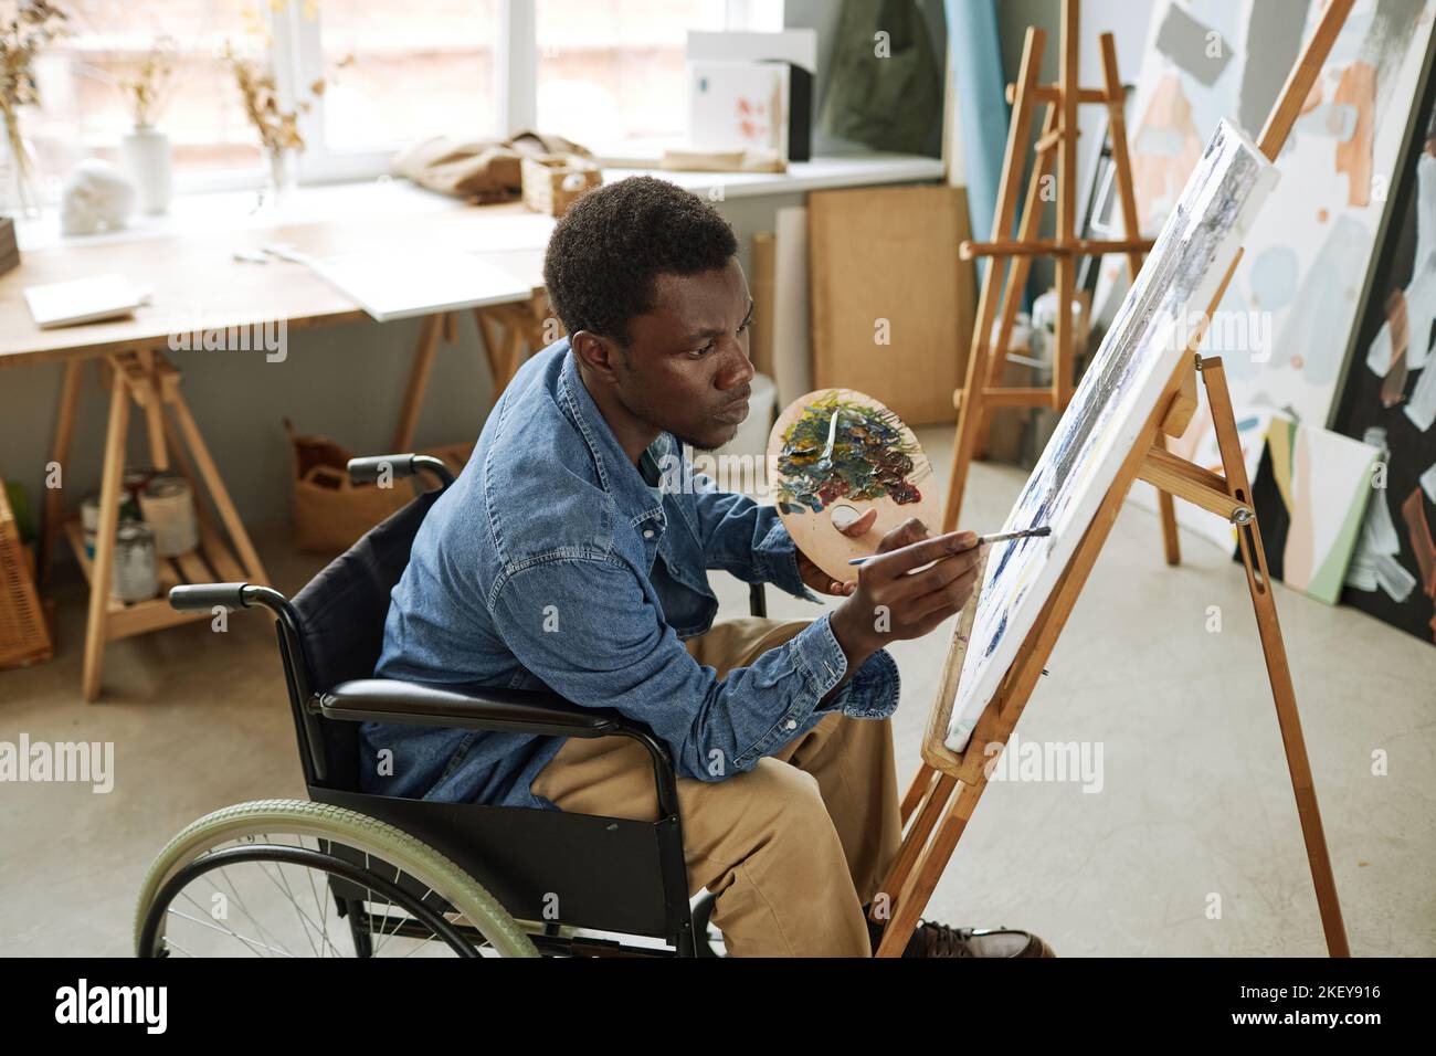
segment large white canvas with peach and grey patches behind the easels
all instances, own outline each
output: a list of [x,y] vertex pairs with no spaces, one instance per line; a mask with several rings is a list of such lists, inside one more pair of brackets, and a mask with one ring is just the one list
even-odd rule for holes
[[[1323,9],[1321,0],[1157,3],[1129,121],[1144,231],[1160,227],[1218,121],[1261,131]],[[1202,349],[1222,356],[1238,418],[1251,424],[1244,434],[1249,468],[1264,447],[1261,408],[1330,424],[1433,16],[1436,0],[1357,0],[1277,161],[1282,193],[1254,224]],[[1106,260],[1099,320],[1124,282],[1124,261]],[[1172,451],[1218,470],[1211,418],[1199,414]],[[1149,486],[1134,494],[1155,509]],[[1189,530],[1234,547],[1232,529],[1219,517],[1185,503],[1178,516]]]

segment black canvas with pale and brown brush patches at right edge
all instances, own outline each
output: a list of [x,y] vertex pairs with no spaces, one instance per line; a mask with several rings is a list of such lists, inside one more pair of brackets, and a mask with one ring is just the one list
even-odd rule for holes
[[1386,451],[1341,601],[1436,642],[1436,72],[1406,152],[1335,428]]

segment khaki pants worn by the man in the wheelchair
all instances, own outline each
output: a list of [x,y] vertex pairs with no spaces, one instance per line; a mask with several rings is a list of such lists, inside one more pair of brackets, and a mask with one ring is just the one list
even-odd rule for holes
[[[686,645],[722,678],[807,625],[734,619]],[[658,820],[649,756],[622,737],[569,738],[531,790],[561,810]],[[902,842],[889,720],[833,713],[747,773],[679,779],[678,803],[689,895],[717,897],[729,955],[872,955],[862,907]]]

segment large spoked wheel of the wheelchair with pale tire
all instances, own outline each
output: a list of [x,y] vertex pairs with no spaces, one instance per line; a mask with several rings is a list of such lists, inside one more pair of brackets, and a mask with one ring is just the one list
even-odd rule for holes
[[537,957],[472,876],[406,832],[306,800],[215,810],[159,852],[139,957]]

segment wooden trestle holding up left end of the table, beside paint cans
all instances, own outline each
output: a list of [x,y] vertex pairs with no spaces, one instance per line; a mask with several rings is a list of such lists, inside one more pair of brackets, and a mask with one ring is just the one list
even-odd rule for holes
[[[65,368],[60,389],[60,414],[55,428],[52,460],[69,471],[70,444],[75,438],[75,412],[79,405],[83,362],[70,361]],[[86,701],[99,697],[105,645],[116,638],[159,631],[161,628],[210,619],[208,612],[177,612],[169,608],[169,588],[181,583],[223,583],[244,580],[267,583],[269,575],[250,542],[220,470],[200,435],[190,414],[190,405],[180,392],[180,371],[154,349],[112,352],[101,361],[101,371],[109,388],[109,424],[105,431],[103,477],[99,491],[99,527],[95,536],[95,556],[85,553],[85,537],[79,516],[65,519],[62,488],[45,493],[45,536],[40,559],[42,575],[49,572],[55,545],[63,529],[75,547],[75,556],[90,585],[89,616],[85,625],[85,668],[82,691]],[[168,470],[171,454],[180,473],[190,481],[195,516],[200,522],[200,547],[178,557],[157,559],[159,595],[149,601],[125,603],[111,598],[109,582],[115,568],[115,532],[119,527],[119,491],[125,473],[125,447],[129,434],[131,404],[145,415],[149,440],[149,460],[155,468]],[[169,415],[165,415],[165,409]],[[171,417],[174,421],[171,422]],[[178,427],[178,428],[177,428]],[[182,440],[182,443],[181,443]],[[204,484],[220,520],[230,536],[224,543],[204,503]],[[238,557],[236,557],[236,553]]]

